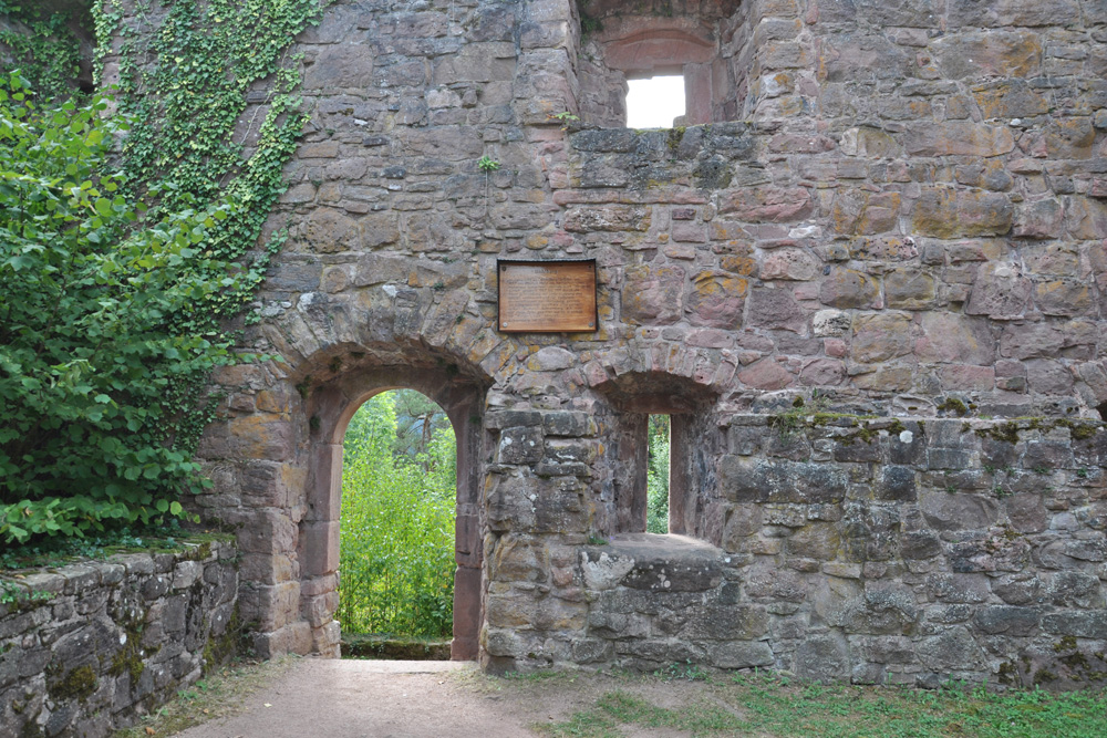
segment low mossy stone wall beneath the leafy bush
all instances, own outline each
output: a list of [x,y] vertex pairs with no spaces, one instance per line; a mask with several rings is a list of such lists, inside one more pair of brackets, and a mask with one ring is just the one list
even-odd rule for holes
[[237,644],[228,541],[0,578],[0,738],[105,736]]

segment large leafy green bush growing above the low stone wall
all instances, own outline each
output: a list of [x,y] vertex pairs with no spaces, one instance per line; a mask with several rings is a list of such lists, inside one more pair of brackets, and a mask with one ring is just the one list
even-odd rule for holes
[[39,108],[18,73],[0,79],[6,542],[184,514],[180,495],[201,486],[204,418],[188,410],[232,361],[201,311],[240,277],[201,245],[234,208],[145,216],[111,164],[126,124],[108,104]]

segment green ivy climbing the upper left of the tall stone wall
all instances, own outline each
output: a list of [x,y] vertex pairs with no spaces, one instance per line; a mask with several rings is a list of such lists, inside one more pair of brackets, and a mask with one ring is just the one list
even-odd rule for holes
[[[173,190],[157,201],[168,210],[193,199],[235,204],[236,215],[210,233],[204,256],[237,261],[256,253],[241,263],[247,278],[236,289],[179,315],[182,326],[211,331],[236,315],[263,279],[268,256],[283,242],[278,233],[256,248],[284,191],[282,168],[306,119],[294,95],[299,60],[290,48],[328,2],[173,0],[154,30],[148,0],[137,3],[130,22],[121,0],[108,0],[97,12],[99,38],[125,40],[118,101],[132,129],[123,145],[124,169],[139,190],[148,183],[172,183]],[[244,121],[247,95],[256,89],[266,93],[265,103]]]

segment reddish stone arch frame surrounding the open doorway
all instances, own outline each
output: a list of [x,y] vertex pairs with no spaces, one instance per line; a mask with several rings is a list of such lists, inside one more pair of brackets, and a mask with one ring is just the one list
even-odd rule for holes
[[[451,657],[475,659],[482,616],[480,415],[484,391],[458,381],[448,368],[386,366],[354,371],[321,385],[309,403],[311,417],[307,510],[300,522],[302,609],[309,621],[333,622],[338,609],[339,517],[342,439],[354,413],[389,389],[415,389],[437,403],[457,439],[457,523],[455,528],[454,640]],[[332,654],[337,655],[337,645]]]

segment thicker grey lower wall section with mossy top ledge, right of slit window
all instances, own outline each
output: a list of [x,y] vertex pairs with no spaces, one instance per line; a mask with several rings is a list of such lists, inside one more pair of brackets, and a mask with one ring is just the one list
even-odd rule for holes
[[855,684],[1107,680],[1098,423],[769,420],[730,425],[724,497],[705,501],[712,542],[639,533],[579,549],[571,630],[586,636],[567,661]]

